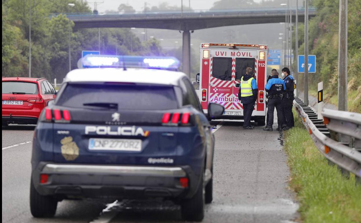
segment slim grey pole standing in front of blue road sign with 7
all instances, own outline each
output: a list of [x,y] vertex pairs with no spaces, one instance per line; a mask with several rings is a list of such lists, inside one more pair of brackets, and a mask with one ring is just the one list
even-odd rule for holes
[[304,64],[304,103],[308,105],[308,0],[305,0],[305,64]]

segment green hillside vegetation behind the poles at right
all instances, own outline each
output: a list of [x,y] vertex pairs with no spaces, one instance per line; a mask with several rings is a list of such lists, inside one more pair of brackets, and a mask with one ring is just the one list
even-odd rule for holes
[[[317,83],[323,81],[324,100],[337,105],[339,1],[313,0],[311,4],[317,9],[317,16],[309,21],[309,54],[316,55],[317,73],[309,73],[309,87],[310,90],[317,91]],[[294,46],[294,43],[292,45]],[[304,54],[303,22],[299,23],[299,46],[299,54],[302,55]],[[298,84],[301,90],[303,90],[302,79],[301,77]],[[360,0],[348,0],[348,110],[361,113]]]

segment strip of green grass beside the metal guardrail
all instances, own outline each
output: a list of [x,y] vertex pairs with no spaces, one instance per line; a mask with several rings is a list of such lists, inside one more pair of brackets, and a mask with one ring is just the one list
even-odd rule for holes
[[361,223],[361,185],[330,166],[301,123],[284,132],[284,147],[291,169],[290,187],[300,203],[301,221],[307,223]]

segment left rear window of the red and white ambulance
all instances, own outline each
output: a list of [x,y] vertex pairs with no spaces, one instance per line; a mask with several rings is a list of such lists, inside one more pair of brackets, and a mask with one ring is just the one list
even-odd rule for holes
[[223,81],[232,80],[232,58],[213,57],[212,76]]

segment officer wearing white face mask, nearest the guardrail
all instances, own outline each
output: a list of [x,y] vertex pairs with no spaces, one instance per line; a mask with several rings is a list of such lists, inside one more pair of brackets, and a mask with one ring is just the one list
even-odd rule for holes
[[282,69],[282,77],[284,84],[286,85],[286,91],[282,98],[283,121],[286,126],[284,126],[282,130],[288,130],[295,126],[292,113],[293,100],[295,99],[295,95],[293,94],[295,79],[290,75],[290,69],[287,67]]

